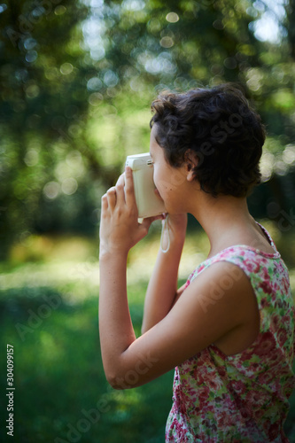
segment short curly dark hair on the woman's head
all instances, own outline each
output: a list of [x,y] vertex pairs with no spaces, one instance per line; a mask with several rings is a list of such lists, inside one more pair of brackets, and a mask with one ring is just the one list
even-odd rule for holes
[[202,190],[246,197],[260,183],[260,157],[266,132],[260,115],[231,83],[212,89],[162,93],[151,104],[156,141],[167,162],[181,167],[195,155],[195,178]]

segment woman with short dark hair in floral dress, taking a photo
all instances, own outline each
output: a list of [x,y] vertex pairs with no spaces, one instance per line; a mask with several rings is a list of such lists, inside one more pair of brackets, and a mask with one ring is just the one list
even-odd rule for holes
[[[136,338],[128,311],[128,251],[157,217],[137,222],[132,172],[102,198],[99,330],[114,388],[175,368],[167,442],[288,441],[295,385],[288,270],[246,197],[260,182],[260,116],[230,84],[166,94],[152,104],[154,183],[168,216]],[[187,215],[206,231],[205,262],[177,289]],[[159,217],[158,217],[159,218]],[[167,240],[167,239],[166,239]]]

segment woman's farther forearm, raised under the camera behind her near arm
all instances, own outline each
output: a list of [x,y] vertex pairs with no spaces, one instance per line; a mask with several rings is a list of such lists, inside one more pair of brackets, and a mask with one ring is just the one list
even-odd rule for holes
[[[142,333],[151,329],[162,320],[175,302],[177,296],[177,277],[182,255],[187,215],[169,215],[170,246],[167,253],[159,250],[153,273],[144,301],[144,320]],[[167,230],[164,233],[164,245],[167,245]]]

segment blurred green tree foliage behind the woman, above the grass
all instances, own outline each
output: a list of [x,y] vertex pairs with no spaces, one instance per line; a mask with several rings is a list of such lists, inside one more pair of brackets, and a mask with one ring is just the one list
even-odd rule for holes
[[292,173],[294,1],[284,7],[268,43],[255,34],[268,6],[252,0],[1,4],[0,258],[26,232],[94,234],[126,155],[148,151],[162,89],[242,83],[268,128],[265,180]]

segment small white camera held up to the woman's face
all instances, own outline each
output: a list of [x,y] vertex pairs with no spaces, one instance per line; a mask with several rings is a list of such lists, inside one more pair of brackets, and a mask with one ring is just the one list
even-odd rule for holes
[[133,171],[138,218],[151,217],[166,212],[163,201],[155,194],[153,166],[149,152],[128,155],[126,166]]

